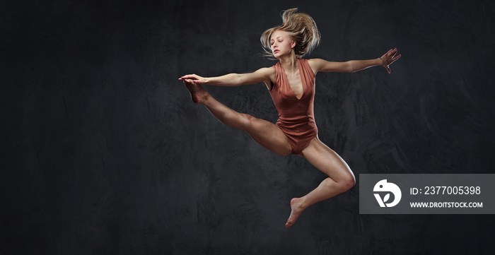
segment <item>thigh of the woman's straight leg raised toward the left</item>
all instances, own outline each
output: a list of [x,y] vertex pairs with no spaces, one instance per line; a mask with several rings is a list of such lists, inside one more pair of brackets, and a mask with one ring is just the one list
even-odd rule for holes
[[272,122],[257,119],[248,115],[249,128],[245,131],[261,146],[279,155],[289,155],[292,152],[291,144],[284,132]]

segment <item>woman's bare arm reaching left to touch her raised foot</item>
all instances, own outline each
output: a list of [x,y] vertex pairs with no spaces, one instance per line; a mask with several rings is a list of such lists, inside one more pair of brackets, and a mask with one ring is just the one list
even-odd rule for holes
[[179,78],[180,81],[188,83],[218,85],[218,86],[239,86],[264,82],[269,84],[272,76],[275,75],[274,69],[262,68],[254,73],[229,73],[224,76],[205,78],[196,74],[188,74]]

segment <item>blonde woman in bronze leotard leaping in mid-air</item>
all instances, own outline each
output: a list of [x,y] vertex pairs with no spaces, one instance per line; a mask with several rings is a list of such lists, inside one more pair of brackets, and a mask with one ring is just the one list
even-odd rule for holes
[[[309,194],[292,198],[286,227],[293,225],[308,206],[341,194],[356,183],[347,163],[318,139],[313,117],[315,74],[318,71],[355,72],[371,66],[385,66],[390,73],[389,65],[400,58],[400,55],[395,57],[397,49],[390,49],[382,57],[370,60],[302,59],[318,45],[320,32],[313,18],[296,11],[297,8],[284,11],[282,25],[266,30],[261,37],[265,52],[279,60],[275,66],[254,73],[230,73],[211,78],[190,74],[179,78],[190,90],[192,101],[205,105],[223,124],[247,131],[257,143],[276,154],[300,155],[329,176]],[[267,85],[279,112],[276,124],[235,112],[216,101],[202,87],[203,84],[238,86],[260,82]]]

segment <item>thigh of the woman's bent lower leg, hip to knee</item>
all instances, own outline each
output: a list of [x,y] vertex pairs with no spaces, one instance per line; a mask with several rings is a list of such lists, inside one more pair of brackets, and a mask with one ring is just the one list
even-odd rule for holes
[[300,154],[335,182],[355,180],[349,165],[316,136]]

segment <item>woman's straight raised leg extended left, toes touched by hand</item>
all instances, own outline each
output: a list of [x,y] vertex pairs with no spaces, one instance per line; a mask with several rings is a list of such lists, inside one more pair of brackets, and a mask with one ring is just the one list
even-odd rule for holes
[[289,140],[275,124],[249,114],[235,112],[215,100],[202,85],[186,82],[185,85],[190,90],[193,102],[206,106],[211,114],[223,124],[248,132],[257,143],[276,154],[289,155],[291,153]]

